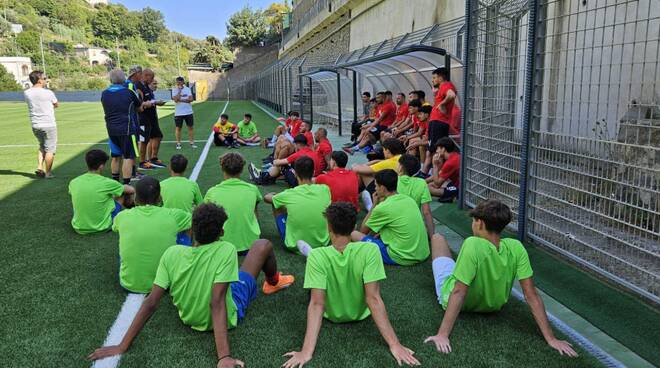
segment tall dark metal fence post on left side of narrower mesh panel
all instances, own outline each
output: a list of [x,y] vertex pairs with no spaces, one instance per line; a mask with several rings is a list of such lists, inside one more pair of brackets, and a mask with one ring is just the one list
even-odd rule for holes
[[472,0],[465,0],[465,58],[463,58],[463,112],[461,113],[462,127],[461,127],[461,167],[460,167],[460,188],[458,190],[458,208],[465,208],[465,173],[466,170],[466,160],[467,160],[467,130],[468,130],[468,94],[469,94],[469,65],[470,65],[470,29],[472,20]]

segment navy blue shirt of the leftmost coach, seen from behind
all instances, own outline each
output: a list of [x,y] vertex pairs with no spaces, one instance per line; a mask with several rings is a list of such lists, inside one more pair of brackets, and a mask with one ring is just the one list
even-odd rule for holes
[[109,136],[136,134],[140,99],[128,88],[113,84],[101,94]]

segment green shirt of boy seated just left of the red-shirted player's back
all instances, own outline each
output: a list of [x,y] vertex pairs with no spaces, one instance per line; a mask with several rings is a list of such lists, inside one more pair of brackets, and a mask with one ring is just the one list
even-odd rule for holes
[[273,197],[275,208],[286,207],[284,243],[289,250],[298,253],[297,240],[304,240],[312,248],[328,245],[330,235],[323,212],[329,205],[330,188],[327,185],[298,185]]

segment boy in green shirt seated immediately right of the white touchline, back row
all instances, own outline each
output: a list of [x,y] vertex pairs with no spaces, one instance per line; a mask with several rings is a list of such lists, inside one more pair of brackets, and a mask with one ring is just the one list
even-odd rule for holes
[[210,188],[204,202],[222,206],[229,219],[225,222],[222,240],[234,244],[239,255],[245,255],[261,236],[257,221],[257,205],[263,200],[253,184],[241,180],[245,159],[238,152],[229,152],[220,158],[224,180]]

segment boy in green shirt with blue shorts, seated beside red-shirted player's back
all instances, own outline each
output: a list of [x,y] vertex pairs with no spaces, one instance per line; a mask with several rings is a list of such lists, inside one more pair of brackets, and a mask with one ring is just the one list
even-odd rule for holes
[[268,193],[266,203],[273,204],[275,226],[284,240],[284,246],[293,252],[297,242],[306,245],[305,249],[328,245],[328,225],[323,211],[330,205],[330,189],[327,185],[314,184],[314,161],[307,156],[300,157],[293,164],[298,186],[281,193]]

